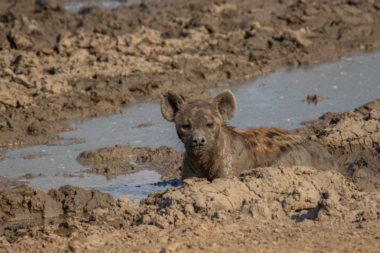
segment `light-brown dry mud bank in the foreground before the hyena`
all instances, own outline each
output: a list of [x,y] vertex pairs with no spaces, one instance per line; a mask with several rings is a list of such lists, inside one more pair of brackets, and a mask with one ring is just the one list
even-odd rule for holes
[[258,168],[212,183],[187,179],[178,189],[150,194],[140,206],[121,198],[92,210],[87,218],[9,226],[0,247],[11,252],[113,252],[126,247],[157,253],[375,252],[380,247],[379,203],[379,189],[359,191],[337,172]]

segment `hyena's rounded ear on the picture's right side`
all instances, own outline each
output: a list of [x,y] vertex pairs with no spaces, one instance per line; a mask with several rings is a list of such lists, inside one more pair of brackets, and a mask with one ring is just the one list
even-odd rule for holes
[[212,103],[218,108],[224,121],[234,118],[236,113],[236,100],[234,94],[232,94],[230,90],[223,90],[214,97]]

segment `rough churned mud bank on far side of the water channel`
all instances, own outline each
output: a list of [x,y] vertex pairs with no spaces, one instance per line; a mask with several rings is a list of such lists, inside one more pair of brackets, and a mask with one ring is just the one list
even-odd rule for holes
[[71,129],[63,120],[123,113],[166,88],[186,94],[377,49],[379,5],[168,0],[74,14],[2,2],[0,146],[48,143],[41,133]]

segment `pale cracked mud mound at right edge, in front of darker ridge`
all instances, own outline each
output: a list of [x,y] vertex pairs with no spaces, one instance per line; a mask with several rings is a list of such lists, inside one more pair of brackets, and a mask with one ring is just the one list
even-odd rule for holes
[[372,118],[341,119],[315,137],[337,159],[343,173],[366,190],[380,188],[380,122]]

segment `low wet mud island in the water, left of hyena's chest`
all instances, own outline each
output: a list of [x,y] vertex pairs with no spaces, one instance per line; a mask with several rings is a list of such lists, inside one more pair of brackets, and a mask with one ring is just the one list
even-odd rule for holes
[[[156,150],[151,150],[148,147],[132,148],[130,145],[116,145],[115,147],[84,151],[77,157],[78,160],[87,163],[119,161],[119,163],[113,163],[105,167],[91,168],[86,172],[110,176],[111,174],[117,175],[139,171],[142,167],[146,167],[161,173],[162,180],[180,178],[182,158],[183,152],[177,152],[174,148],[168,146],[161,146]],[[125,164],[124,161],[121,161],[125,159],[134,160],[142,167]]]

